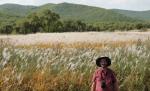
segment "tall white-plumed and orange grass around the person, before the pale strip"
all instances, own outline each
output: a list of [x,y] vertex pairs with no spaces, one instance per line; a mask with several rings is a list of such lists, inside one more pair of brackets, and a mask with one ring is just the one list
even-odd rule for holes
[[1,38],[0,90],[89,91],[95,59],[109,56],[120,91],[150,91],[149,52],[148,37],[30,45],[14,45],[10,38]]

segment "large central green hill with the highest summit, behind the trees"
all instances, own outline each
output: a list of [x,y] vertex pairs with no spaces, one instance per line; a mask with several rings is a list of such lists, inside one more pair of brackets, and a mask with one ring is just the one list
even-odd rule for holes
[[[44,7],[48,6],[51,5],[44,5]],[[55,6],[53,5],[53,7],[50,8],[52,11],[58,13],[62,19],[75,19],[92,23],[105,21],[136,21],[136,19],[131,19],[130,17],[113,12],[112,10],[85,5],[61,3]]]

